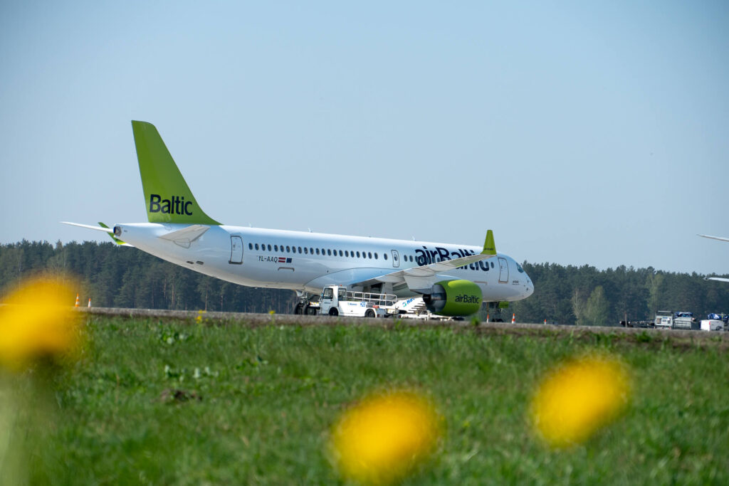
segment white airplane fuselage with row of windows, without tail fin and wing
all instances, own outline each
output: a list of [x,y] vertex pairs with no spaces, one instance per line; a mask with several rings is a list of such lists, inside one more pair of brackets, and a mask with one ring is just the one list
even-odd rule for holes
[[[327,285],[348,286],[423,264],[480,253],[481,248],[451,243],[389,240],[313,232],[211,226],[190,240],[160,238],[187,224],[117,224],[119,238],[149,254],[196,272],[245,286],[292,289],[312,294]],[[510,256],[496,257],[443,272],[445,278],[472,281],[484,301],[529,297],[529,275]],[[397,297],[416,295],[394,285]]]

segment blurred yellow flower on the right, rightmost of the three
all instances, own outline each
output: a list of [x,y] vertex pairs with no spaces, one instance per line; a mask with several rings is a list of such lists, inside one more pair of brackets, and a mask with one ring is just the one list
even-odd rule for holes
[[617,359],[574,359],[542,380],[531,402],[532,420],[548,444],[567,447],[615,419],[629,394],[628,373]]

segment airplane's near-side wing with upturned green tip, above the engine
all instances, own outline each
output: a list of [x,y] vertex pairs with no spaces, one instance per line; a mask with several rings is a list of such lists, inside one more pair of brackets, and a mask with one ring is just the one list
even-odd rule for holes
[[435,262],[420,267],[406,268],[405,270],[397,270],[392,273],[378,275],[364,281],[351,282],[350,285],[374,285],[375,283],[406,283],[408,288],[413,291],[429,291],[432,285],[440,280],[438,275],[448,270],[454,270],[467,264],[480,262],[496,256],[496,245],[494,244],[494,232],[488,230],[486,233],[486,241],[483,243],[483,251],[480,254],[461,256],[451,260],[443,260],[443,262]]

